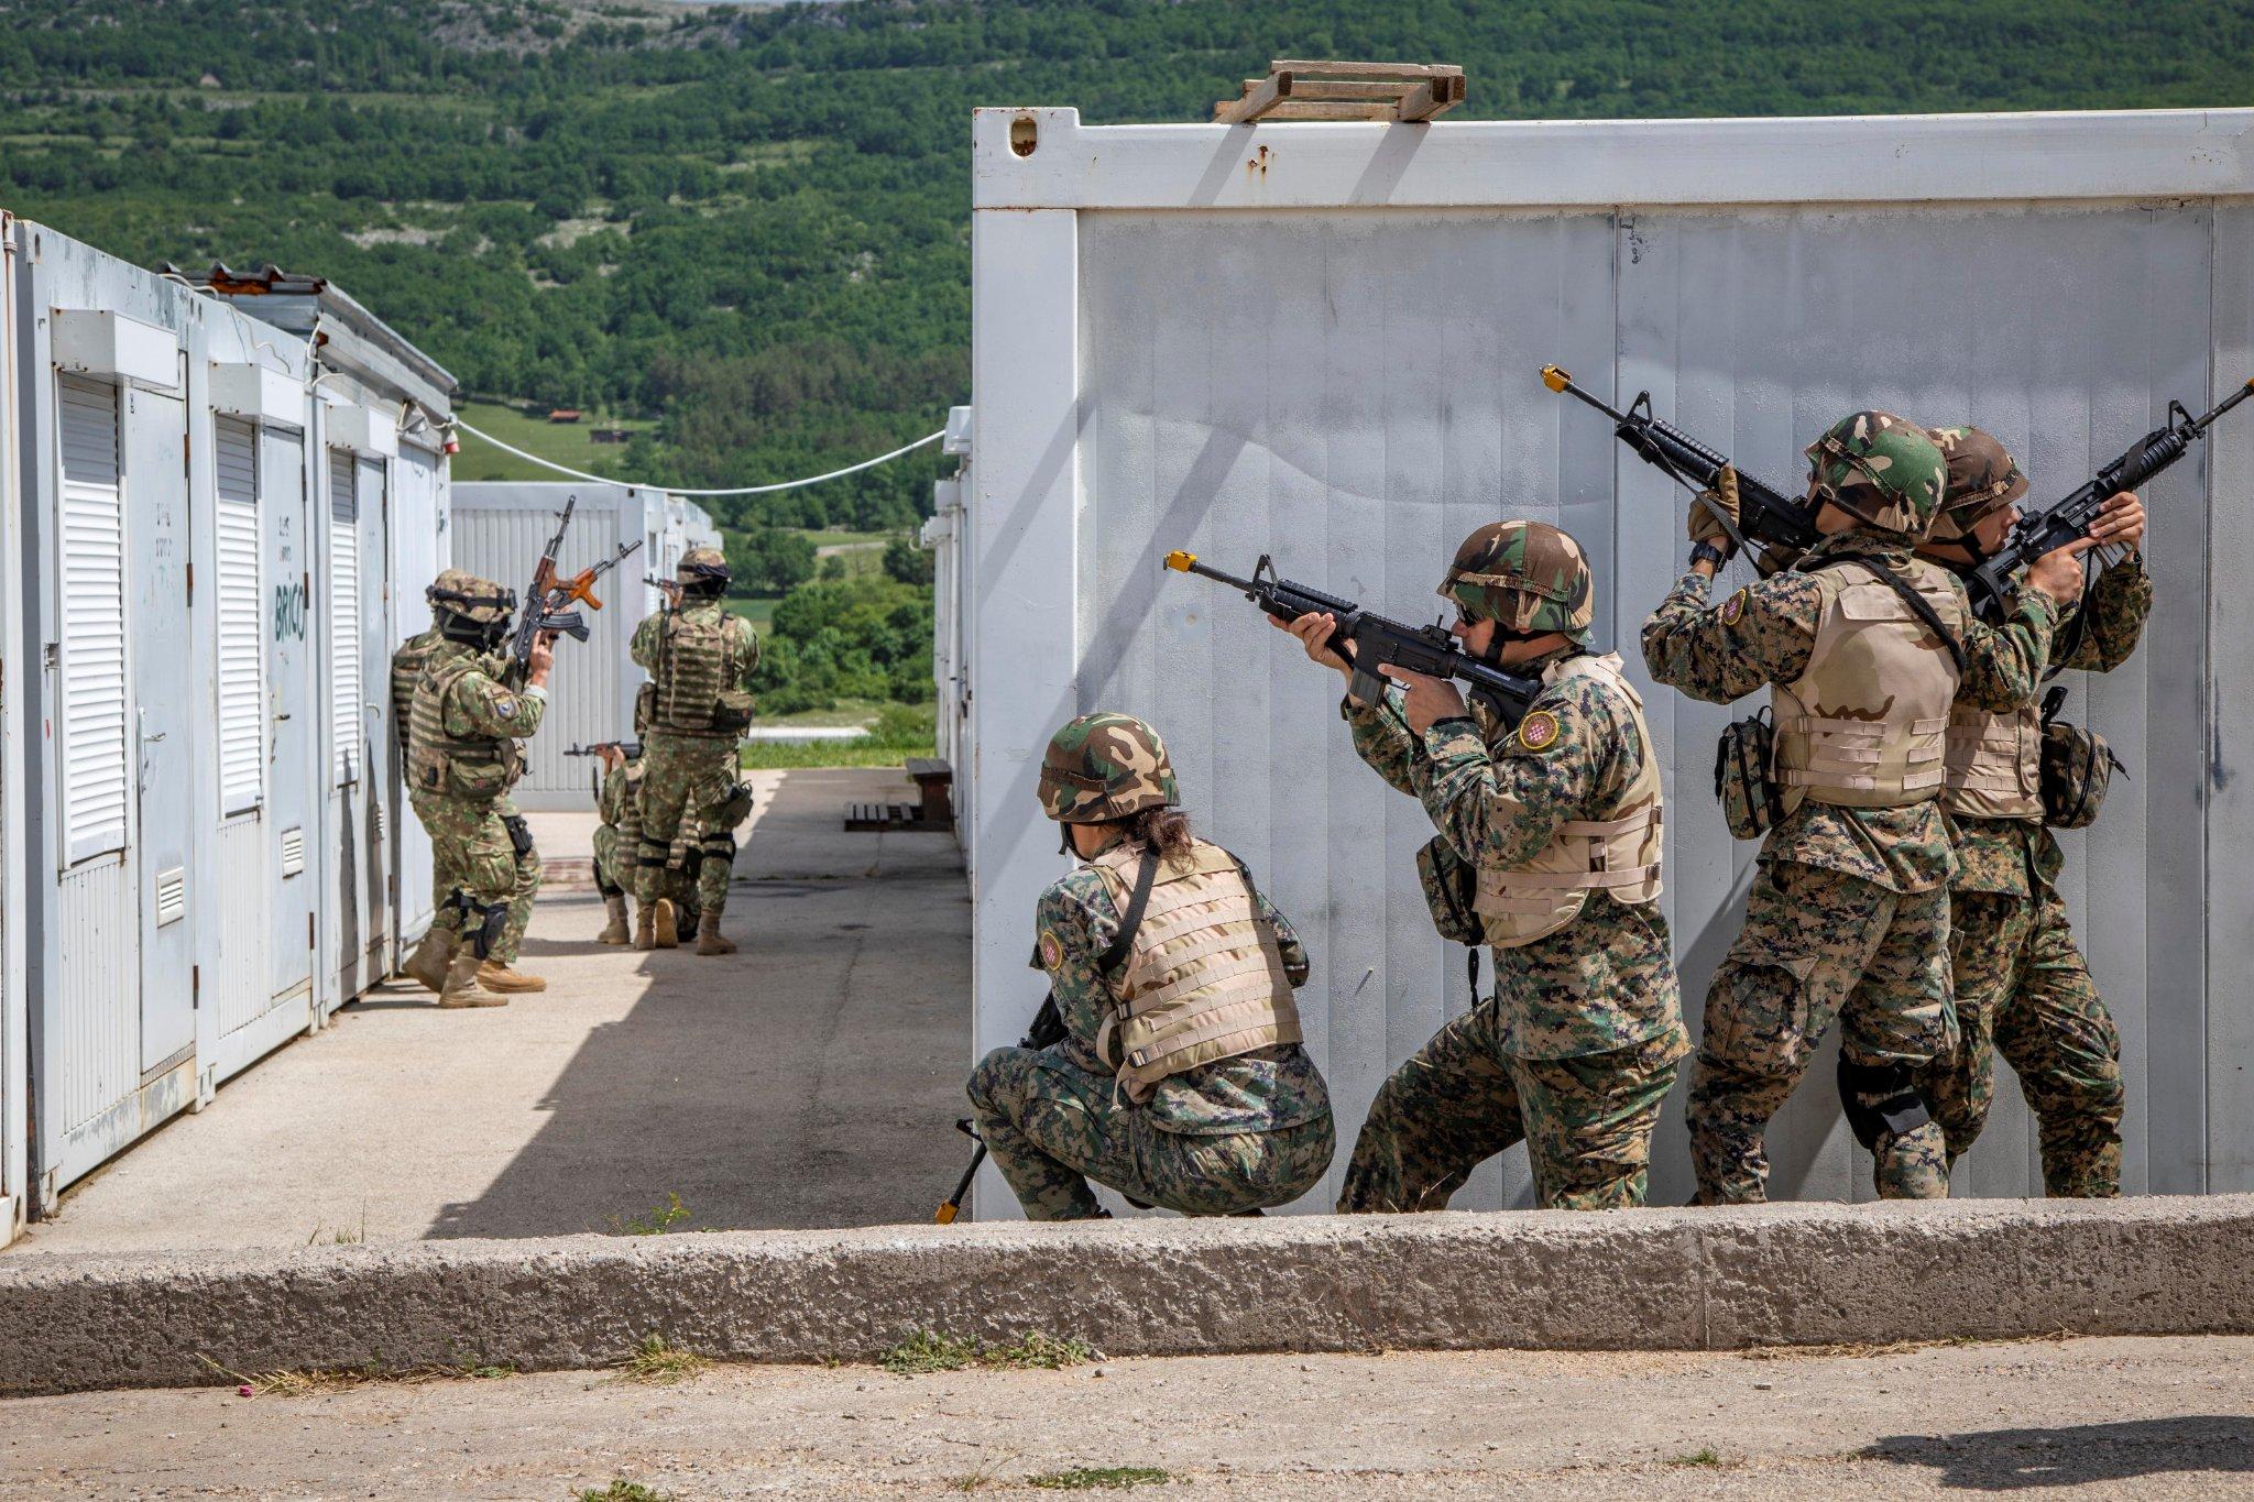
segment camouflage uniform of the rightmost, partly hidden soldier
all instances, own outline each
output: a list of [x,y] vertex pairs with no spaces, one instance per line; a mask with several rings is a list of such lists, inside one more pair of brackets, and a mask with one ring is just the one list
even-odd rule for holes
[[[1986,439],[1979,430],[1936,437]],[[1988,468],[2008,471],[2008,482],[1995,489],[1995,500],[2008,504],[2026,482],[1999,444],[1986,444],[1993,455],[1979,457],[1988,459]],[[1950,450],[1950,444],[1943,448]],[[1950,450],[1952,498],[1959,471],[1959,455]],[[1972,500],[1970,520],[1984,509]],[[2153,581],[2141,556],[2132,554],[2098,574],[2080,601],[2080,628],[2060,626],[2060,640],[2076,637],[2071,646],[2060,646],[2062,667],[2094,673],[2121,667],[2137,651],[2150,613]],[[2126,1106],[2121,1034],[2058,896],[2056,878],[2065,862],[2058,840],[2040,815],[1954,813],[1950,824],[1959,862],[1950,883],[1950,959],[1963,1040],[1952,1058],[1936,1061],[1920,1076],[1947,1137],[1950,1162],[1972,1148],[1988,1121],[1995,1056],[2002,1054],[2035,1112],[2044,1191],[2060,1198],[2117,1196]]]

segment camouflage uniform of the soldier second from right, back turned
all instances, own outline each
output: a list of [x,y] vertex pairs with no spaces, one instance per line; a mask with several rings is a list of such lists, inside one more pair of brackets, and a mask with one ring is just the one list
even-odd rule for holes
[[[2002,628],[1984,626],[1952,574],[1914,558],[1916,534],[1941,498],[1938,450],[1920,444],[1932,475],[1918,480],[1923,516],[1914,531],[1860,525],[1833,534],[1794,570],[1738,590],[1720,608],[1706,604],[1711,581],[1686,572],[1643,624],[1652,678],[1722,705],[1767,685],[1799,682],[1823,608],[1812,570],[1833,556],[1864,556],[1902,579],[1945,581],[1954,592],[1965,651],[1959,700],[1993,709],[2031,703],[2056,610],[2049,597],[2022,590]],[[1817,448],[1810,446],[1812,462]],[[1706,991],[1693,1067],[1690,1157],[1702,1203],[1767,1198],[1767,1124],[1835,1020],[1842,1063],[1857,1076],[1905,1079],[1907,1070],[1914,1079],[1956,1047],[1947,964],[1947,883],[1956,858],[1938,790],[1936,784],[1932,797],[1891,808],[1808,797],[1763,842],[1745,928]],[[1898,1090],[1857,1088],[1855,1101],[1880,1112]],[[1947,1193],[1934,1121],[1875,1130],[1871,1151],[1880,1196]]]

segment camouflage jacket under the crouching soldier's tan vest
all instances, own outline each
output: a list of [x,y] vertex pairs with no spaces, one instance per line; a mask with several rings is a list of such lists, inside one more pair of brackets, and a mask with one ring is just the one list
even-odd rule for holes
[[[1307,950],[1298,932],[1258,887],[1253,901],[1260,905],[1260,917],[1276,928],[1276,946],[1283,950],[1292,986],[1305,986]],[[1057,1016],[1064,1018],[1064,1043],[1057,1047],[1091,1074],[1116,1074],[1118,1065],[1107,1065],[1095,1054],[1104,1018],[1118,1007],[1118,993],[1095,964],[1120,930],[1120,914],[1102,874],[1082,865],[1053,880],[1041,892],[1032,921],[1037,930],[1032,968],[1048,971]],[[1260,1133],[1325,1115],[1330,1090],[1307,1049],[1283,1043],[1170,1074],[1159,1081],[1141,1110],[1150,1112],[1152,1126],[1170,1133]]]

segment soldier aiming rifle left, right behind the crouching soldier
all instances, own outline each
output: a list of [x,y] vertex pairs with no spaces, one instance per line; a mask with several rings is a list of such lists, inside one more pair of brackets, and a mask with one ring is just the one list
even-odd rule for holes
[[[1594,594],[1571,536],[1490,522],[1456,549],[1440,597],[1465,651],[1542,678],[1517,727],[1397,669],[1384,703],[1341,705],[1355,752],[1440,831],[1418,867],[1443,935],[1494,950],[1494,993],[1370,1103],[1341,1212],[1443,1209],[1521,1139],[1537,1205],[1643,1203],[1690,1038],[1659,912],[1659,761],[1621,658],[1589,651]],[[1303,615],[1285,631],[1348,673],[1332,626]]]

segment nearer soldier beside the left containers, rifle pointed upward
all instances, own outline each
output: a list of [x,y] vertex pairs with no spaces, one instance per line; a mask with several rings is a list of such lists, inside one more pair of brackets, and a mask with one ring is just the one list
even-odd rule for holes
[[437,862],[453,874],[440,908],[449,926],[440,1007],[505,1007],[507,991],[545,991],[514,968],[541,885],[532,831],[509,802],[523,775],[518,741],[548,712],[552,637],[534,640],[523,689],[494,676],[491,653],[509,631],[516,594],[458,574],[433,588],[442,642],[415,685],[408,736],[408,802]]

